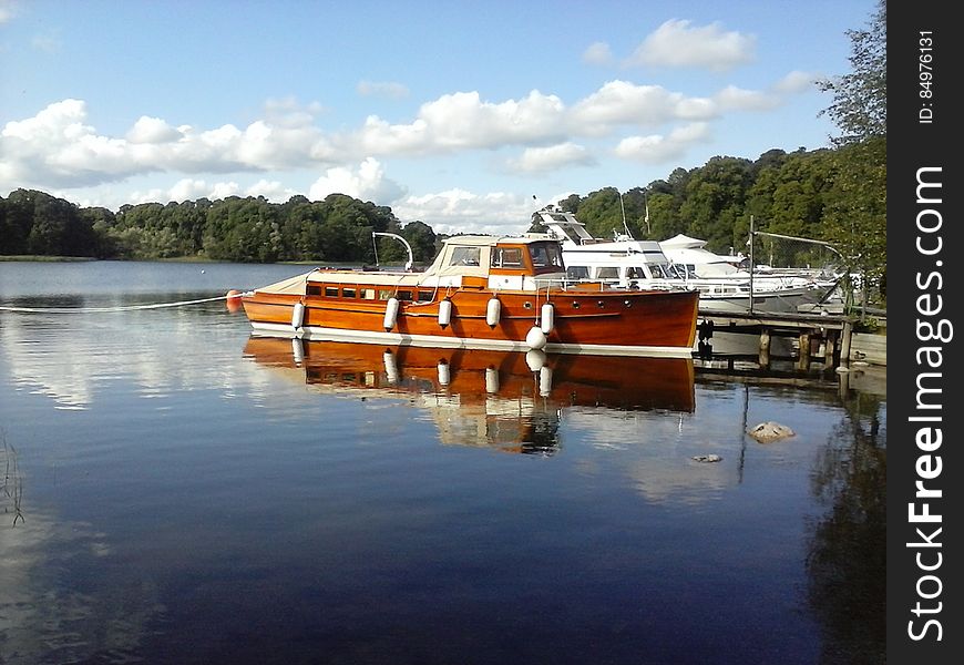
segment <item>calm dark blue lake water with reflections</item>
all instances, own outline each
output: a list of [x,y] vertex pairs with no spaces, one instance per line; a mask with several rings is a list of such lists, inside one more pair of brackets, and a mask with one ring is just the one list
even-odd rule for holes
[[884,396],[90,309],[299,270],[0,263],[0,663],[883,662]]

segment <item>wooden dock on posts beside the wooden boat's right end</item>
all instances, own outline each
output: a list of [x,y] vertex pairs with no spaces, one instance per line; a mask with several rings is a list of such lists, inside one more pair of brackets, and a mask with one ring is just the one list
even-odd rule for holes
[[[769,368],[772,360],[771,341],[776,337],[789,337],[797,341],[798,369],[810,369],[814,360],[823,362],[827,369],[835,369],[849,365],[852,359],[855,321],[855,317],[841,314],[734,313],[701,308],[697,324],[697,352],[711,355],[716,334],[755,336],[758,340],[759,366]],[[885,352],[880,364],[886,364]]]

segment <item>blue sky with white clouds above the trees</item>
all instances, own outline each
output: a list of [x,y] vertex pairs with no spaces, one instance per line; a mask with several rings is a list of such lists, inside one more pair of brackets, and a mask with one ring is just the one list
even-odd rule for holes
[[512,234],[571,194],[828,147],[876,0],[0,0],[0,196],[342,193]]

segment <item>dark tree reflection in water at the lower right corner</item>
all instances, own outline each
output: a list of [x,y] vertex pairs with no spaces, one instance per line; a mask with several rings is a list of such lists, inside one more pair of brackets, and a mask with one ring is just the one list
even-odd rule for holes
[[814,463],[828,507],[812,525],[809,601],[823,626],[820,662],[886,662],[886,422],[882,400],[851,393]]

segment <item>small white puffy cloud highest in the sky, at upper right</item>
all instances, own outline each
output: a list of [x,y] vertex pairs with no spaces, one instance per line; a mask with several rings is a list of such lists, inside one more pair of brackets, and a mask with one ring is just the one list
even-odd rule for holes
[[755,37],[725,32],[718,22],[694,27],[688,20],[671,19],[649,34],[625,64],[727,71],[750,62],[755,48]]

